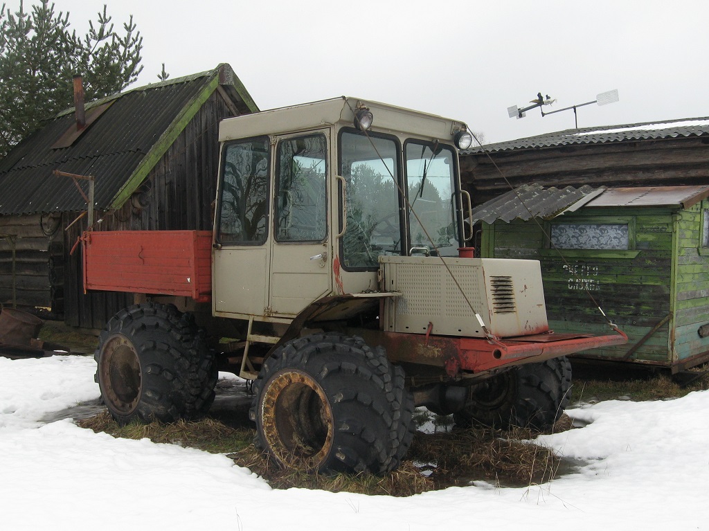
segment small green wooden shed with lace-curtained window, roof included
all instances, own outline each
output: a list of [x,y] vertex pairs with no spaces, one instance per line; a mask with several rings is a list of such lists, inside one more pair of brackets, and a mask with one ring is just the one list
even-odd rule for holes
[[481,257],[540,260],[553,330],[606,332],[605,313],[630,338],[576,356],[676,372],[709,359],[708,197],[709,186],[528,185],[472,214]]

